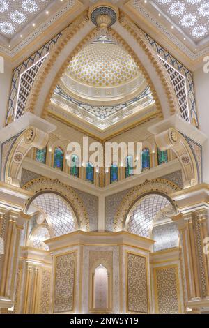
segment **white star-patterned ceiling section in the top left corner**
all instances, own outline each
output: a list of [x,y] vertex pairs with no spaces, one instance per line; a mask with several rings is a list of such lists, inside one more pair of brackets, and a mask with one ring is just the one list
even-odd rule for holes
[[12,38],[44,10],[50,0],[0,0],[0,33]]

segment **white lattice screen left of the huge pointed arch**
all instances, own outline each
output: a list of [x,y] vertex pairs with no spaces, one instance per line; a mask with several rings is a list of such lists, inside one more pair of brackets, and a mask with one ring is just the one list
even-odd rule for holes
[[36,61],[35,64],[24,70],[24,72],[20,75],[15,119],[19,119],[24,114],[26,101],[33,86],[33,82],[36,79],[38,70],[40,70],[40,67],[42,66],[48,54],[49,53],[45,54],[44,57],[40,58],[38,61]]

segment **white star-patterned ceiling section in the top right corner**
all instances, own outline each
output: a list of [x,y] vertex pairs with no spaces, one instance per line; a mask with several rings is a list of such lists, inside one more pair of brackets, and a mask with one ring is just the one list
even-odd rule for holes
[[[134,0],[134,3],[139,0]],[[169,20],[173,21],[194,42],[209,33],[209,0],[153,0]]]

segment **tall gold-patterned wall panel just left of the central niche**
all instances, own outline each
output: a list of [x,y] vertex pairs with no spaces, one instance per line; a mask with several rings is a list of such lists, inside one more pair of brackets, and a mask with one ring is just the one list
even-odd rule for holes
[[54,313],[74,310],[75,267],[76,252],[56,256],[54,264]]

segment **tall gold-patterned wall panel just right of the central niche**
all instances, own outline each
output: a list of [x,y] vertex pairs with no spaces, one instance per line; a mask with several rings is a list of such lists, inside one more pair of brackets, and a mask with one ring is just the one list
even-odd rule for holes
[[146,258],[127,253],[127,311],[148,313]]

